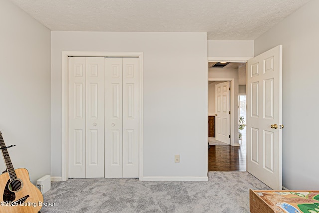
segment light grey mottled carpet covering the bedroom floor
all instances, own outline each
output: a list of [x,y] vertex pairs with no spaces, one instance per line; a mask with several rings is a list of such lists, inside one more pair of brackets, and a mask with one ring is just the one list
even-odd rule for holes
[[248,172],[209,172],[208,182],[129,178],[52,182],[41,213],[249,213],[249,189],[269,188]]

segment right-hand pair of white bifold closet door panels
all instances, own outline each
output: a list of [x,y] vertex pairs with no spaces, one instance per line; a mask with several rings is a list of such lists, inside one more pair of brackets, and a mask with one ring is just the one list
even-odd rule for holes
[[139,59],[105,58],[105,177],[139,177]]

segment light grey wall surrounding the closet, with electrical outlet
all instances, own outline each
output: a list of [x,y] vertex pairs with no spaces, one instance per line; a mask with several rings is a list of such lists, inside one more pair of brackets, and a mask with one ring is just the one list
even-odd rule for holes
[[[62,51],[143,52],[143,176],[207,177],[206,33],[52,31],[52,176],[61,176]],[[174,155],[180,154],[180,163]]]

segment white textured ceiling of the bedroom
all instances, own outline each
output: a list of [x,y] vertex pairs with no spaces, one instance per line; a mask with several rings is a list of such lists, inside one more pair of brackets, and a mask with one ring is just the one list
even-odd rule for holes
[[51,30],[254,40],[309,0],[11,0]]

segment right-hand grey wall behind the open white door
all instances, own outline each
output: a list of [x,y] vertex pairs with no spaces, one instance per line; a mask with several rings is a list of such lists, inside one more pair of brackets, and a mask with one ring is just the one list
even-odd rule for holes
[[319,1],[255,40],[255,55],[283,45],[283,185],[319,190]]

